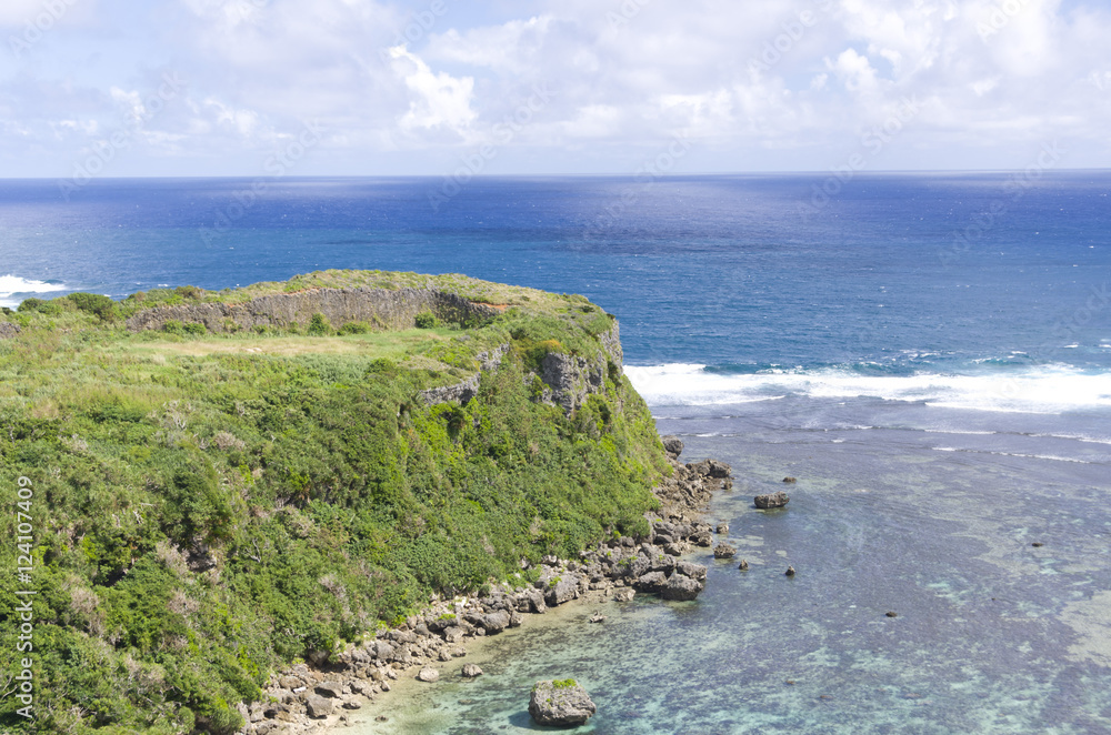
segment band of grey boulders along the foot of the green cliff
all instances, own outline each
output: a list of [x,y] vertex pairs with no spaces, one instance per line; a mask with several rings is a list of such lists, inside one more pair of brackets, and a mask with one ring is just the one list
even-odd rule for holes
[[[680,557],[713,545],[715,528],[701,515],[715,491],[732,489],[731,470],[714,460],[681,464],[683,446],[675,437],[664,437],[664,449],[674,473],[654,489],[661,509],[648,537],[613,538],[581,552],[578,560],[546,557],[531,586],[496,585],[482,597],[436,601],[404,625],[348,647],[334,664],[298,664],[271,677],[261,701],[239,705],[247,722],[239,733],[299,735],[351,725],[350,713],[389,692],[391,682],[412,676],[434,682],[438,664],[467,655],[467,641],[518,627],[529,615],[588,593],[618,602],[638,593],[694,600],[705,587],[707,567]],[[477,666],[468,668],[464,675],[481,674]]]

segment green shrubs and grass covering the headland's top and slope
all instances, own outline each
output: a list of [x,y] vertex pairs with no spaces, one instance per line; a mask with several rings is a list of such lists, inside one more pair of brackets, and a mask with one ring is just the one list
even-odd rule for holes
[[[292,283],[430,282],[508,308],[391,333],[324,319],[283,333],[123,328],[151,304],[243,300],[187,288],[0,315],[22,328],[0,340],[0,554],[16,566],[27,476],[38,590],[38,721],[7,697],[0,729],[230,732],[234,704],[298,658],[321,661],[437,593],[523,584],[522,557],[644,530],[665,463],[643,402],[611,369],[604,393],[567,416],[536,400],[530,375],[547,352],[598,352],[611,318],[597,306],[461,276]],[[421,400],[504,343],[467,405]],[[27,655],[22,586],[0,576],[7,673]]]

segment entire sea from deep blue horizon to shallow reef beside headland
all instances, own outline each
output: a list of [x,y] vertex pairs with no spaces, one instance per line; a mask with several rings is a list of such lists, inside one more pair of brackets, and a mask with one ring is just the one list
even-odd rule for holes
[[[8,180],[0,304],[358,268],[620,319],[661,433],[732,464],[710,516],[750,570],[699,558],[694,603],[530,620],[478,681],[409,686],[352,732],[529,732],[532,683],[570,676],[599,705],[584,733],[1111,733],[1109,192],[1049,171],[447,199],[437,179]],[[757,511],[787,475],[790,505]]]

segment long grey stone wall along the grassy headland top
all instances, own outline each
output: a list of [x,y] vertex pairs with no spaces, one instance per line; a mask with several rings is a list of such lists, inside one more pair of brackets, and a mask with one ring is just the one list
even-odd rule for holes
[[489,318],[498,310],[434,289],[314,289],[252,299],[242,304],[201,303],[141,311],[127,321],[132,332],[160,330],[169,321],[204,324],[210,332],[257,326],[303,326],[323,314],[332,326],[369,322],[382,330],[412,329],[417,314],[431,312],[444,322]]

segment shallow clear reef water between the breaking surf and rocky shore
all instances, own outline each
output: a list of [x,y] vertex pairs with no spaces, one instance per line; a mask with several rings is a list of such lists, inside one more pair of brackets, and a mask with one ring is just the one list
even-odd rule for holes
[[[688,437],[687,455],[733,464],[710,517],[729,521],[748,572],[703,554],[693,603],[532,617],[483,644],[477,682],[386,695],[372,712],[390,722],[354,732],[534,731],[532,683],[568,676],[599,706],[577,732],[599,735],[1111,732],[1111,513],[1088,465],[1031,476],[882,437]],[[784,474],[799,477],[788,509],[752,507]],[[594,610],[608,620],[587,624]]]

